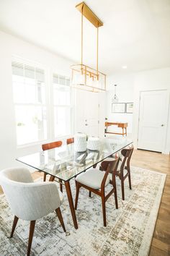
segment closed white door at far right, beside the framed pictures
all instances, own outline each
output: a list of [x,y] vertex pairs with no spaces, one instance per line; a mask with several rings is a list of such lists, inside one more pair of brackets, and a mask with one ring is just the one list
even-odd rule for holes
[[138,148],[162,152],[166,140],[168,93],[153,90],[140,93]]

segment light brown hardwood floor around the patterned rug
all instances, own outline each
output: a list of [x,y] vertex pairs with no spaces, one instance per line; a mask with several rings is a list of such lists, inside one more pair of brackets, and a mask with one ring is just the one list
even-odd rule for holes
[[[134,150],[131,165],[167,174],[149,255],[170,256],[170,155]],[[32,176],[37,179],[43,174],[35,171]]]

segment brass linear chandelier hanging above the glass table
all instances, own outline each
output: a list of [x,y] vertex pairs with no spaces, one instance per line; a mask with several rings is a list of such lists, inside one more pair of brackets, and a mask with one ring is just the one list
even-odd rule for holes
[[[98,70],[98,51],[99,51],[99,27],[103,25],[101,20],[83,2],[76,5],[76,9],[81,12],[81,64],[72,65],[71,86],[81,90],[88,90],[94,93],[106,90],[106,74]],[[94,27],[97,27],[97,69],[93,69],[83,64],[83,22],[86,17]]]

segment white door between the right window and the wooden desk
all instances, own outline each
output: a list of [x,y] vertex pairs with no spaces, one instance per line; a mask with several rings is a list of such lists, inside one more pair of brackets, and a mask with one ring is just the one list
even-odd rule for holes
[[77,90],[76,93],[76,132],[99,136],[98,93]]

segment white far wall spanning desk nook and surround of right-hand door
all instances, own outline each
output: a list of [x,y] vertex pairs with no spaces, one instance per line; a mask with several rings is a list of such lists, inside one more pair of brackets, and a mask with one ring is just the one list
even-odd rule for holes
[[[128,134],[132,132],[135,148],[138,147],[138,117],[140,92],[143,90],[167,90],[170,98],[170,67],[164,69],[151,69],[132,74],[115,74],[108,77],[107,82],[107,108],[106,116],[109,121],[127,121]],[[133,102],[132,114],[112,114],[112,97],[114,84],[117,84],[119,102]],[[157,104],[157,103],[156,103]],[[170,107],[169,107],[170,108]],[[166,142],[163,153],[170,153],[170,109],[167,116]]]

